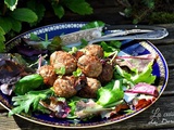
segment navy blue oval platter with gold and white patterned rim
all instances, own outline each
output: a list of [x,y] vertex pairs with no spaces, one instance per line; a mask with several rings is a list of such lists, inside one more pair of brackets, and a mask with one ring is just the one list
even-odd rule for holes
[[[45,38],[45,35],[48,34],[48,38],[51,39],[54,36],[77,31],[85,24],[86,23],[83,23],[83,22],[60,23],[60,24],[53,24],[53,25],[48,25],[48,26],[36,28],[36,29],[32,29],[7,42],[7,50],[12,49],[20,41],[21,38],[24,38],[24,37],[28,38],[32,32],[41,38]],[[74,120],[72,121],[70,119],[51,118],[49,115],[38,114],[38,113],[32,114],[32,115],[20,114],[17,116],[39,125],[57,127],[57,128],[92,128],[92,127],[100,127],[100,126],[120,122],[122,120],[128,119],[141,113],[142,110],[151,106],[163,93],[169,79],[167,64],[162,53],[149,41],[140,41],[140,42],[132,41],[126,44],[123,44],[120,55],[122,55],[123,53],[135,55],[135,56],[141,55],[141,54],[150,54],[150,53],[159,55],[159,58],[153,65],[153,72],[152,72],[152,74],[157,76],[156,86],[158,87],[158,90],[159,90],[159,96],[150,105],[137,112],[122,115],[119,117],[112,117],[110,119],[94,118],[88,121],[78,121],[78,122]],[[11,98],[8,95],[4,95],[1,91],[0,91],[0,104],[9,110],[13,107],[11,104]]]

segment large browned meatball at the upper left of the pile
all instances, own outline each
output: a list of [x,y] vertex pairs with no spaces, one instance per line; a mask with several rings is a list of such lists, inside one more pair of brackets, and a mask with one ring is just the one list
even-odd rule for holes
[[76,70],[77,61],[72,54],[67,52],[55,51],[50,55],[50,64],[55,69],[65,67],[65,74],[69,75]]

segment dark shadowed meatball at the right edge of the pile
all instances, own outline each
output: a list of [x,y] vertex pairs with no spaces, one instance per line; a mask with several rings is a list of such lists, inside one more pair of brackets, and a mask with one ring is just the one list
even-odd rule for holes
[[113,66],[111,64],[104,63],[102,65],[102,73],[99,75],[98,79],[101,83],[107,83],[111,81],[113,77]]

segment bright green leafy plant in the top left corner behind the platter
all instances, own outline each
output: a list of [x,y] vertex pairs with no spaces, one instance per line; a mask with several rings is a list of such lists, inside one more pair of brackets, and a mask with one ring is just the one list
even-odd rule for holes
[[92,8],[85,0],[2,0],[0,1],[0,52],[4,52],[5,35],[14,37],[15,32],[22,30],[23,23],[36,26],[46,15],[48,5],[59,18],[64,16],[66,9],[79,15],[92,13]]

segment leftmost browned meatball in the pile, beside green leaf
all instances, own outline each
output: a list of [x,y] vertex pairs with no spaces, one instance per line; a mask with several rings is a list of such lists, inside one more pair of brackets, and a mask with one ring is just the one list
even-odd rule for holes
[[42,76],[44,82],[49,86],[53,86],[54,80],[57,79],[57,74],[53,66],[44,65],[38,69],[38,74]]

